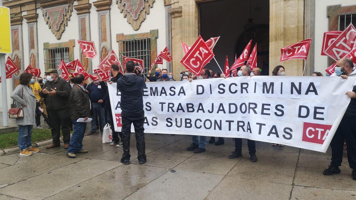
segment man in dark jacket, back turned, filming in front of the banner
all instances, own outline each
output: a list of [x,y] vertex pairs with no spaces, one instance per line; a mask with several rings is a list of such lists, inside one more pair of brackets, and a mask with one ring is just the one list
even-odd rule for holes
[[121,162],[130,164],[130,136],[131,123],[135,127],[136,148],[138,151],[137,159],[140,164],[146,160],[145,154],[145,134],[143,131],[143,121],[145,111],[143,111],[142,90],[146,88],[145,80],[135,73],[135,63],[128,61],[126,63],[125,76],[117,80],[117,90],[121,92],[121,124],[122,124],[122,143],[124,153]]

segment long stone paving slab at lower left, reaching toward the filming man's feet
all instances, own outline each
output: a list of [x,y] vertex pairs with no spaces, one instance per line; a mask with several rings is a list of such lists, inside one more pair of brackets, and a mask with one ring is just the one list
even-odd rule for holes
[[[65,159],[68,160],[68,158],[60,160]],[[80,160],[37,177],[1,188],[0,193],[22,199],[44,199],[118,167],[120,164],[95,159]],[[36,188],[40,188],[41,192],[29,189],[28,185],[32,184],[35,184]]]

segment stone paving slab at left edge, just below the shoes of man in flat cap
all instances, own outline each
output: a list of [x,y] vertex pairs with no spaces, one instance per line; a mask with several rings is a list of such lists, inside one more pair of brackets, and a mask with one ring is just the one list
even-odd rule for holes
[[62,155],[51,155],[1,168],[0,185],[26,180],[68,164],[78,162],[82,159],[83,158],[68,159],[68,157]]

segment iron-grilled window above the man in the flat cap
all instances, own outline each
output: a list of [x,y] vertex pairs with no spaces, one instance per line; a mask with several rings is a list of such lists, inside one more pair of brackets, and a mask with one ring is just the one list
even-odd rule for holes
[[[45,54],[45,69],[55,68],[58,69],[62,59],[65,63],[69,63],[69,48],[68,47],[56,47],[43,49]],[[60,73],[59,73],[60,74]]]

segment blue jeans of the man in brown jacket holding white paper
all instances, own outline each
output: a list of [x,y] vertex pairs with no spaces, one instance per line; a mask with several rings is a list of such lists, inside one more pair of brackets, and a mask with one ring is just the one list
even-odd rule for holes
[[[77,122],[77,120],[72,120],[73,123],[73,134],[70,138],[69,147],[67,153],[75,153],[83,148],[83,137],[85,129],[87,128],[87,122]],[[94,121],[95,123],[95,121]]]

